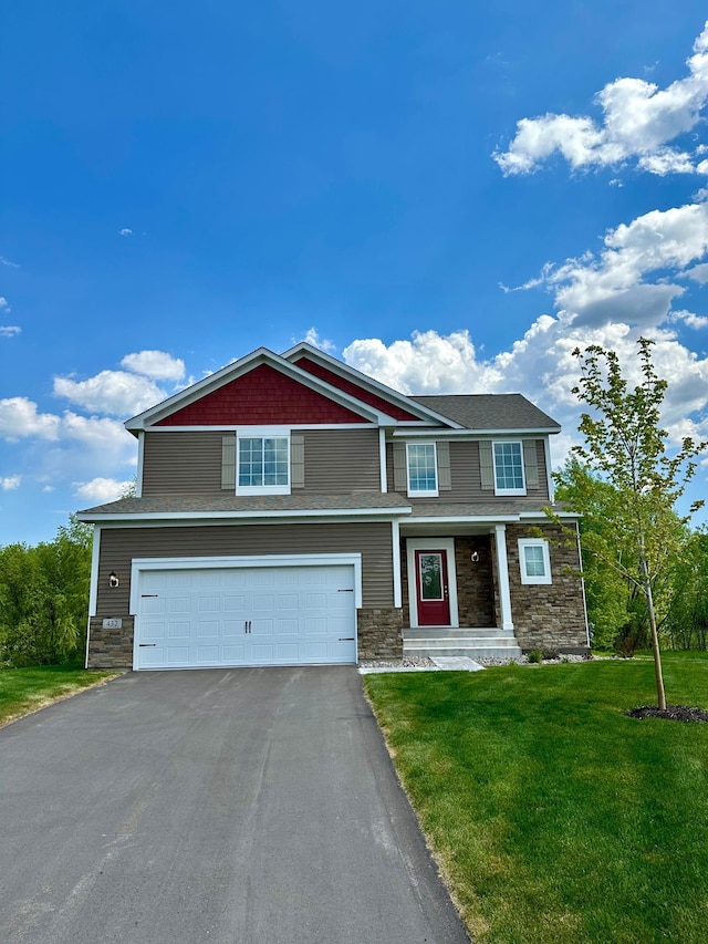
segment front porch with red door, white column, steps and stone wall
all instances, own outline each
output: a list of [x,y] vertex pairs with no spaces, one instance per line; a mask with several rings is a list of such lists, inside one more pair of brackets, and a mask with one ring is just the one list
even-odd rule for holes
[[[406,523],[399,557],[403,655],[509,660],[532,649],[589,651],[577,547],[562,540],[558,526]],[[539,529],[549,549],[545,579],[524,582],[520,547]]]

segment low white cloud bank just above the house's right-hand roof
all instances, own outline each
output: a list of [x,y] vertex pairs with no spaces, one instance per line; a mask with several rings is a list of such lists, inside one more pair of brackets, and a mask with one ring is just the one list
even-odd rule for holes
[[[563,425],[553,437],[555,465],[577,440],[581,407],[573,387],[579,369],[573,350],[600,344],[616,351],[631,385],[642,382],[636,341],[642,332],[626,324],[575,324],[566,315],[541,315],[510,351],[480,360],[467,331],[447,336],[417,332],[412,341],[386,345],[378,339],[353,341],[344,351],[346,363],[404,393],[521,393]],[[645,332],[647,333],[647,332]],[[657,374],[669,378],[662,419],[671,443],[689,428],[697,438],[708,436],[708,359],[683,346],[669,330],[648,332],[655,341]]]

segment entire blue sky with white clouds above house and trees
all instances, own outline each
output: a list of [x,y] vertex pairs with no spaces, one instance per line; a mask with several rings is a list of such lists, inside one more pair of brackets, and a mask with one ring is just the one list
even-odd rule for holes
[[523,393],[564,424],[560,460],[573,347],[631,373],[644,333],[671,437],[706,438],[705,21],[693,0],[6,10],[0,543],[115,497],[124,419],[303,338],[404,392]]

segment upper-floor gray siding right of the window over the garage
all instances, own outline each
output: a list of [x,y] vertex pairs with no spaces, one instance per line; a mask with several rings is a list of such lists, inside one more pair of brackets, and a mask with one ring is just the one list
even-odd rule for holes
[[305,430],[304,494],[381,491],[378,429]]

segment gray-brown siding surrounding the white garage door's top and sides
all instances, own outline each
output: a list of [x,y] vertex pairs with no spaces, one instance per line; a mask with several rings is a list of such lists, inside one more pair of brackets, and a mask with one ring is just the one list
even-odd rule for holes
[[[198,525],[104,528],[98,563],[98,616],[129,612],[133,558],[238,554],[361,553],[364,606],[393,606],[392,532],[388,522],[332,525]],[[121,580],[108,587],[108,574]]]

